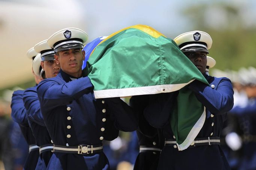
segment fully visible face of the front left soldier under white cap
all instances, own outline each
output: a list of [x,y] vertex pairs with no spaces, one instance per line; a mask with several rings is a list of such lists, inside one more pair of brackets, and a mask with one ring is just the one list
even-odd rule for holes
[[81,49],[63,50],[59,52],[59,55],[54,55],[54,58],[57,63],[60,63],[63,72],[74,77],[81,75],[81,67],[85,58],[85,52]]

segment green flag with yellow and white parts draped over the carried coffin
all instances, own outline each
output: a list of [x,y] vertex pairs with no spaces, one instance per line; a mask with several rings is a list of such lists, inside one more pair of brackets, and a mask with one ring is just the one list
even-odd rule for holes
[[[147,25],[127,27],[104,39],[90,54],[86,72],[94,86],[95,98],[173,92],[195,79],[208,84],[202,73],[172,39]],[[179,115],[175,113],[176,116],[172,116],[171,121],[176,126],[174,130],[180,144],[179,150],[186,149],[190,141],[193,142],[195,134],[199,133],[199,128],[202,128],[204,122],[203,118],[203,121],[200,118],[205,114],[202,110],[193,113],[198,119],[191,120],[193,122],[190,127],[184,130],[184,123],[180,125],[180,122],[184,122],[181,118],[187,119],[186,114],[191,114],[188,112],[191,108],[184,104],[193,106],[189,103],[191,101],[184,97],[186,93],[178,99],[181,101],[178,108],[184,108],[178,109]],[[193,102],[201,104],[198,100]],[[180,112],[184,113],[181,117]],[[198,121],[200,123],[197,123]],[[190,130],[194,125],[198,127],[197,132],[191,134]],[[191,134],[189,140],[188,134]]]

